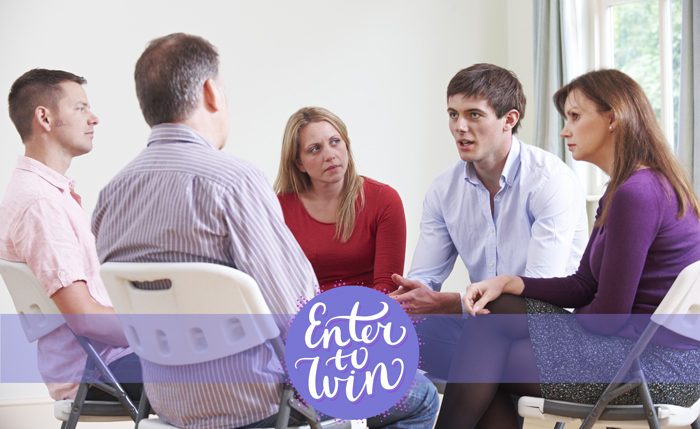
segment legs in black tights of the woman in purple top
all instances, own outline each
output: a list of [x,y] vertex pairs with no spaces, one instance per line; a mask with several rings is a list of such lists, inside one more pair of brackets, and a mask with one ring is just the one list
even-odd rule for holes
[[477,315],[466,321],[436,429],[517,429],[520,425],[510,394],[542,396],[525,298],[504,294],[486,308],[493,315],[512,316]]

